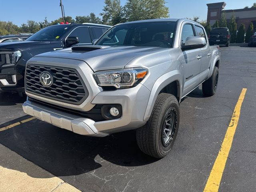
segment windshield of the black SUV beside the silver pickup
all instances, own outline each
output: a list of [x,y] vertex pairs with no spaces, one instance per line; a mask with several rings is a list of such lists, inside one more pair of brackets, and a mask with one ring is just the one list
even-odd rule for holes
[[26,39],[26,41],[54,41],[62,37],[69,27],[59,25],[59,26],[50,26],[41,29],[32,36]]

